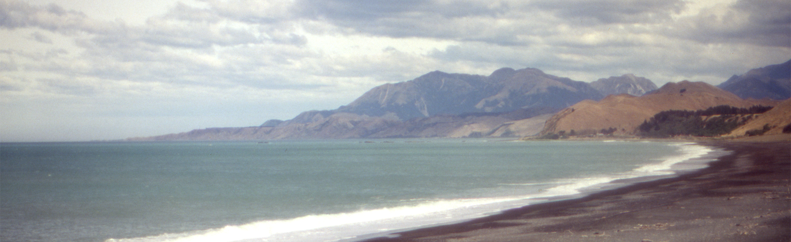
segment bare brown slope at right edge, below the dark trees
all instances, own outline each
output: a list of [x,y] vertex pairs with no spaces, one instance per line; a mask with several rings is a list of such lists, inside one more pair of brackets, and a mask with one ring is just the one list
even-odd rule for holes
[[770,129],[763,134],[783,134],[783,128],[789,125],[791,125],[791,99],[783,101],[770,111],[763,113],[758,118],[752,119],[744,126],[736,128],[736,130],[724,136],[741,137],[747,135],[746,133],[749,130],[763,130],[764,126]]

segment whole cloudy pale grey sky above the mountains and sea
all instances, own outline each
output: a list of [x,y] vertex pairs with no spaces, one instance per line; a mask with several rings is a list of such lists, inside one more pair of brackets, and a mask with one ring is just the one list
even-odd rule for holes
[[0,141],[259,126],[433,70],[720,84],[791,59],[788,0],[0,0]]

